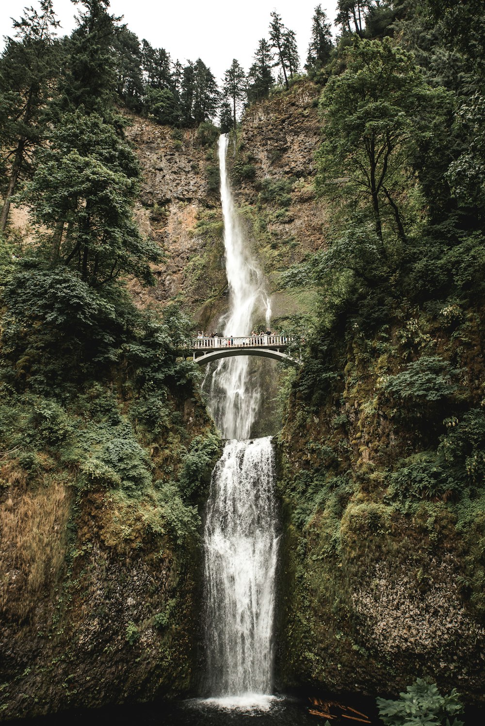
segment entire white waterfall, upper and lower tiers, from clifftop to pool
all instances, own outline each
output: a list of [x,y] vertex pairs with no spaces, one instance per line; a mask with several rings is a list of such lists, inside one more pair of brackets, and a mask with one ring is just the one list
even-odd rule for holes
[[[271,309],[264,279],[245,248],[219,140],[230,309],[224,335],[249,335],[256,309]],[[256,385],[255,385],[256,384]],[[225,439],[213,470],[204,531],[206,687],[225,706],[263,706],[272,692],[277,516],[271,437],[250,440],[259,388],[248,356],[221,360],[209,394]],[[266,701],[264,696],[266,695]]]

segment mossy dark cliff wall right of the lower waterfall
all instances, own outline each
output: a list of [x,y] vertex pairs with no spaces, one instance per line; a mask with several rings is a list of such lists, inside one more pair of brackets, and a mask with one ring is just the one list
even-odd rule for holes
[[[394,321],[382,335],[349,334],[330,381],[328,362],[310,358],[290,400],[280,437],[280,677],[375,694],[425,675],[476,702],[485,685],[484,495],[469,467],[483,446],[483,311],[468,312],[466,335],[416,311],[399,318],[404,330]],[[425,404],[386,393],[415,346],[460,365],[455,418],[449,393]],[[320,388],[305,381],[314,375]]]

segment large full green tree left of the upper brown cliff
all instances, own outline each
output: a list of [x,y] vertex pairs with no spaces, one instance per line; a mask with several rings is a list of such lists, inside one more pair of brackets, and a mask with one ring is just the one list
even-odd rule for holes
[[150,284],[158,252],[133,219],[139,167],[113,126],[96,113],[65,115],[37,158],[22,199],[49,230],[39,234],[52,264],[75,269],[93,286],[123,274]]

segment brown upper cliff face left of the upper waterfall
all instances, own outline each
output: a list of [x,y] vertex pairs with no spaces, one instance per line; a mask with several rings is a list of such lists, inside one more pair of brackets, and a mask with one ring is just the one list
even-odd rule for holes
[[142,232],[163,253],[152,266],[155,287],[130,284],[140,306],[161,306],[181,298],[200,325],[207,320],[207,301],[226,284],[221,234],[204,225],[221,218],[219,192],[209,184],[216,154],[203,146],[195,129],[174,131],[133,117],[126,135],[134,144],[142,170],[136,218]]

